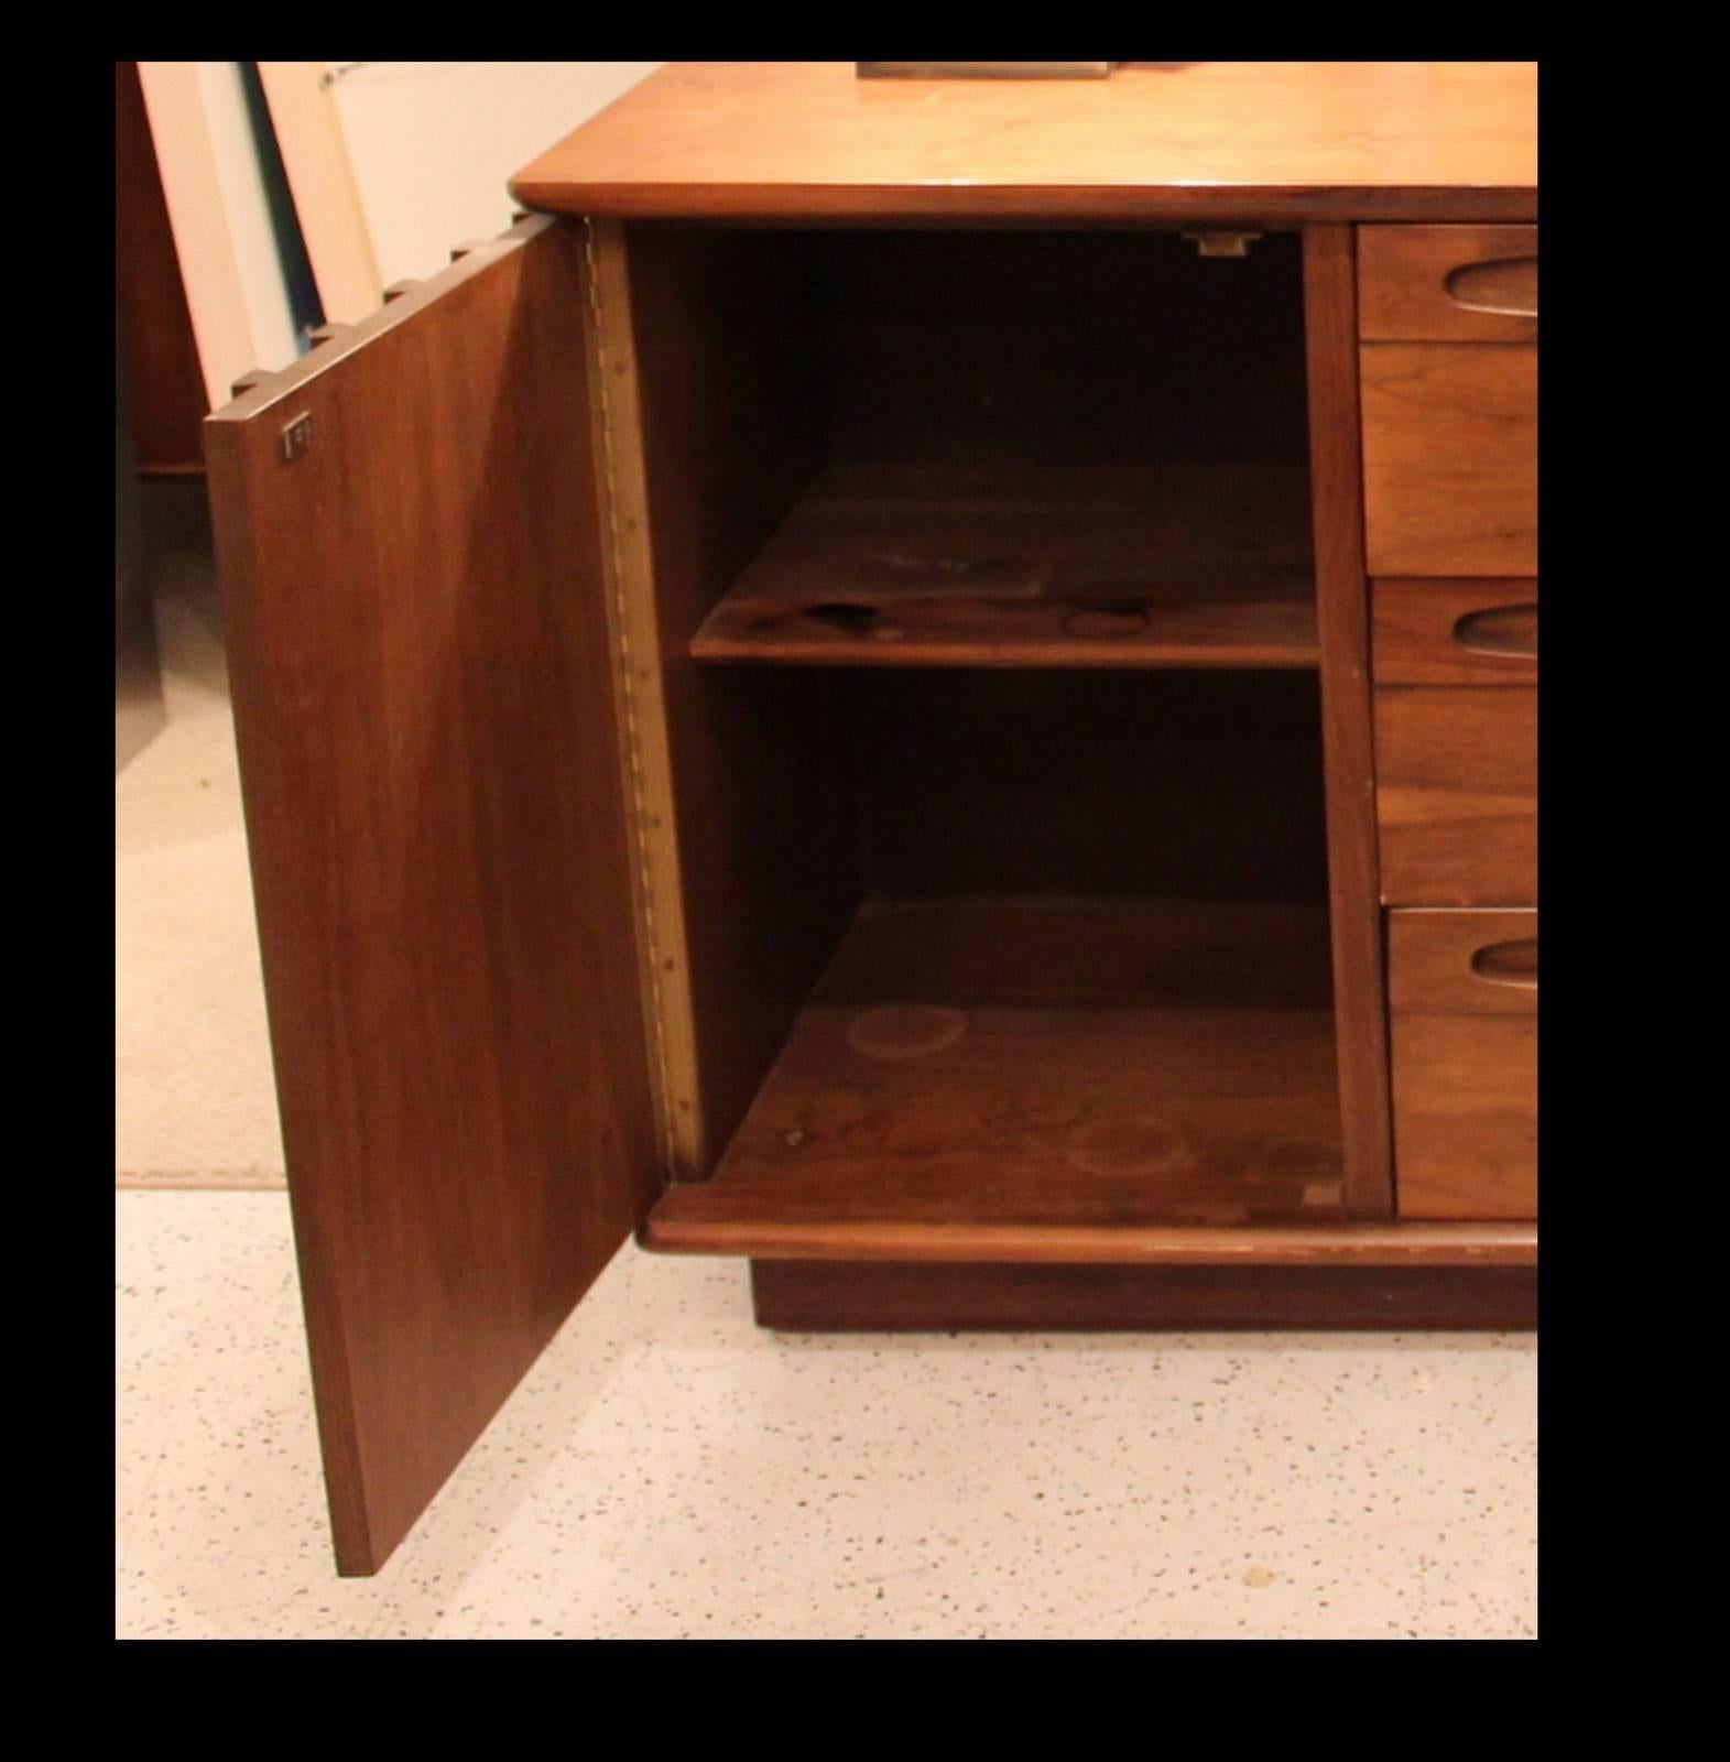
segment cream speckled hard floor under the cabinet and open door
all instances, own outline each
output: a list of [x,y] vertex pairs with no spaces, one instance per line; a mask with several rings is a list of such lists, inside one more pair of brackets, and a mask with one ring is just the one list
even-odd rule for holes
[[123,1637],[1524,1639],[1534,1348],[759,1332],[625,1249],[329,1565],[280,1193],[120,1193]]

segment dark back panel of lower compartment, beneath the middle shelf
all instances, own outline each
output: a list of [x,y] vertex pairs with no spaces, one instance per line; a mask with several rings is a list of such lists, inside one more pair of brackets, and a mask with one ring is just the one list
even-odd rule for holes
[[867,888],[1327,899],[1316,680],[846,677]]

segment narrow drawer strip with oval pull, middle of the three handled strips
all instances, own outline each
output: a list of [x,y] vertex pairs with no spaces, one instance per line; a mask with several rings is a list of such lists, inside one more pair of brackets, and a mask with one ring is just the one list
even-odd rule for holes
[[1378,685],[1536,685],[1536,581],[1376,581]]

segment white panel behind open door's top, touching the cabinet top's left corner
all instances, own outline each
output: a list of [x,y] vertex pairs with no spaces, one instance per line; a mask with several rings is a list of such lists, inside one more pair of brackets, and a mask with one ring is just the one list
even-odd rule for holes
[[511,222],[506,180],[661,62],[331,62],[386,282]]

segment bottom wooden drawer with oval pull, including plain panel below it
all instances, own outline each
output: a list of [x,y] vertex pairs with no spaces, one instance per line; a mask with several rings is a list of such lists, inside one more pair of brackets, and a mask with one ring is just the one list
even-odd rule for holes
[[1538,1216],[1538,913],[1388,914],[1399,1216]]

